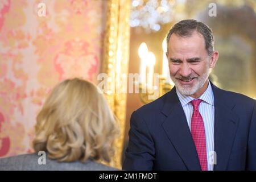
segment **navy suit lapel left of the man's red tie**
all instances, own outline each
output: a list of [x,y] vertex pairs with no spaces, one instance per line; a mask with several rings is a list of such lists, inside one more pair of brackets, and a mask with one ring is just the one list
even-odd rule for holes
[[191,137],[185,113],[173,88],[167,96],[162,113],[167,116],[162,126],[171,143],[189,170],[201,170],[196,147]]

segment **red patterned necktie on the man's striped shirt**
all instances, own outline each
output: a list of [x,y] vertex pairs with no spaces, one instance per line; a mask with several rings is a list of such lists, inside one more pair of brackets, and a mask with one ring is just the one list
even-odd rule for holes
[[199,113],[199,105],[203,100],[193,100],[193,114],[191,118],[191,135],[196,146],[197,155],[202,171],[207,171],[207,149],[204,131],[204,121]]

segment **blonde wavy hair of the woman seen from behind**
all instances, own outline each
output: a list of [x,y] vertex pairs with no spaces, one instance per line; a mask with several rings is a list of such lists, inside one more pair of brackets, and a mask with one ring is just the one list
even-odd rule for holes
[[92,83],[73,78],[60,82],[36,117],[34,150],[60,162],[110,161],[118,133],[104,95]]

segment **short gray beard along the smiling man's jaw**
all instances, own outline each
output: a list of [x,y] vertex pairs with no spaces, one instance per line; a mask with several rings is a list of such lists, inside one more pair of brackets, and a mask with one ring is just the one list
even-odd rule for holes
[[[176,80],[176,78],[173,76],[171,76],[171,79],[175,83],[176,88],[179,90],[179,92],[181,94],[183,94],[185,96],[191,96],[203,87],[205,81],[207,81],[207,79],[208,79],[209,72],[210,72],[210,69],[208,68],[207,71],[201,77],[198,78],[199,80],[197,80],[195,82],[194,86],[192,86],[192,87],[189,85],[187,85],[187,86],[181,85],[180,82],[178,80]],[[195,78],[195,79],[197,79],[197,78]]]

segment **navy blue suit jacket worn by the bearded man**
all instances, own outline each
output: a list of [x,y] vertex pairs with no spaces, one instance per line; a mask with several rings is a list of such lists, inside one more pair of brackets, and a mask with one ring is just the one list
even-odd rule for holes
[[[131,115],[123,169],[201,170],[175,89]],[[256,170],[256,101],[213,84],[212,89],[214,170]]]

